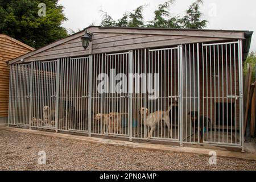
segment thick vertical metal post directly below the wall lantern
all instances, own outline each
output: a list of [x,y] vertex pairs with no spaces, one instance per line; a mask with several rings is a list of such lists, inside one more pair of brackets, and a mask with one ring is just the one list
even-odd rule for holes
[[88,78],[88,132],[92,136],[92,62],[93,55],[89,56],[89,78]]

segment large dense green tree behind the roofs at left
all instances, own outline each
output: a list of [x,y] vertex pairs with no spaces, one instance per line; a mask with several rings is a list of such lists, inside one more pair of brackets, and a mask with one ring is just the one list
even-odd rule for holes
[[[38,15],[39,3],[46,16]],[[61,23],[67,20],[57,0],[0,0],[0,33],[38,48],[67,36]]]

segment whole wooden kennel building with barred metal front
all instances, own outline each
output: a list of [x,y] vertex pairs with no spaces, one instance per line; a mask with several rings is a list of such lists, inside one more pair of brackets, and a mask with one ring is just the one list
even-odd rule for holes
[[253,32],[85,30],[9,61],[9,126],[243,150]]

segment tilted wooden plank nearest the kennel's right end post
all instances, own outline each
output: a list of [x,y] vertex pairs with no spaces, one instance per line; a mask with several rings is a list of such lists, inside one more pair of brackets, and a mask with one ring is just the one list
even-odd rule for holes
[[247,125],[247,118],[248,118],[248,111],[249,111],[249,104],[250,104],[250,88],[251,88],[251,67],[249,66],[247,75],[246,75],[247,79],[245,79],[247,82],[245,84],[245,87],[247,87],[247,90],[245,90],[245,96],[246,96],[246,102],[245,104],[245,118],[244,118],[244,122],[243,122],[243,134],[245,134],[246,131],[246,125]]

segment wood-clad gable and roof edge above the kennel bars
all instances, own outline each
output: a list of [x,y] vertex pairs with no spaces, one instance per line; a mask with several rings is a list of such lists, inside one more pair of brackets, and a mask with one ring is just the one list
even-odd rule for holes
[[[84,49],[81,36],[85,30],[93,33],[92,42]],[[243,60],[251,43],[252,31],[195,30],[172,28],[131,28],[89,26],[82,31],[36,49],[9,61],[29,63],[31,61],[54,60],[62,57],[86,56],[96,53],[121,52],[140,48],[158,48],[189,43],[230,42],[242,39]]]

